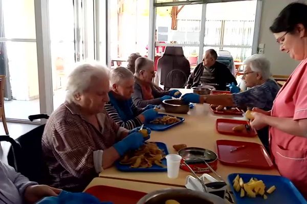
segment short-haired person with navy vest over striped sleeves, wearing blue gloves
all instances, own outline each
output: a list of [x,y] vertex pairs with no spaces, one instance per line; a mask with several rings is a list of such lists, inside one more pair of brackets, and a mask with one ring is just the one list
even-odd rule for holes
[[117,67],[111,71],[111,91],[108,93],[110,101],[104,106],[109,116],[120,126],[128,130],[141,126],[158,117],[154,105],[137,108],[131,94],[134,92],[134,75],[125,67]]

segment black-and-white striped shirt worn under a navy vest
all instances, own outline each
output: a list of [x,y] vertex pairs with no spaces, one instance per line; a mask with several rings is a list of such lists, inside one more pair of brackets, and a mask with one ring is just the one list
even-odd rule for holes
[[[139,127],[142,125],[142,122],[139,118],[137,118],[138,115],[140,115],[144,110],[142,108],[136,107],[134,103],[131,101],[130,109],[134,114],[134,118],[130,120],[124,121],[120,115],[118,114],[118,110],[112,105],[111,101],[109,101],[104,106],[105,110],[107,111],[108,115],[120,126],[124,127],[127,130],[132,130],[136,127]],[[121,110],[122,112],[125,112],[125,110]]]

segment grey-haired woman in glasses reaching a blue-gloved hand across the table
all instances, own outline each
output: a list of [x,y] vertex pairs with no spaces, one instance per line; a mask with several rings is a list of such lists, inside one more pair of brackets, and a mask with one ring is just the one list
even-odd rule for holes
[[[188,93],[182,96],[186,103],[207,103],[241,108],[259,108],[269,111],[279,91],[279,86],[271,80],[270,62],[263,55],[253,55],[244,61],[243,80],[247,91],[221,95],[198,95]],[[258,132],[261,142],[268,148],[268,130]]]

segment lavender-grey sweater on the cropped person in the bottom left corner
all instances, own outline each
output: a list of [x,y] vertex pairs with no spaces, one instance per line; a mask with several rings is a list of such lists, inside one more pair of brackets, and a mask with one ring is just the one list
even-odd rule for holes
[[30,185],[37,185],[37,183],[30,182],[13,167],[0,161],[0,203],[24,203],[24,191]]

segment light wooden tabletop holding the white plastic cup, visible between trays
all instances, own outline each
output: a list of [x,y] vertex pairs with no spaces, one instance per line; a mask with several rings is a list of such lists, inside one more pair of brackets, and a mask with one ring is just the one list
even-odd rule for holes
[[[191,92],[191,90],[180,89],[182,93]],[[261,144],[258,137],[248,138],[248,137],[237,137],[222,135],[215,130],[215,120],[221,117],[232,117],[223,115],[213,115],[209,110],[209,105],[196,104],[194,109],[191,109],[187,115],[182,114],[172,114],[185,118],[185,121],[172,129],[164,132],[151,132],[150,141],[164,142],[169,153],[177,153],[172,145],[174,144],[187,144],[188,147],[202,147],[210,149],[216,152],[216,140],[238,140],[238,141],[248,141]],[[243,117],[232,117],[240,118]],[[216,172],[222,176],[222,178],[227,181],[227,176],[230,173],[256,173],[256,174],[271,174],[279,175],[276,169],[261,170],[252,168],[242,168],[234,166],[226,166],[218,162]],[[174,185],[178,187],[183,187],[185,185],[186,176],[190,175],[189,172],[180,170],[179,177],[177,179],[169,179],[167,177],[167,172],[121,172],[115,167],[105,169],[99,176],[109,179],[126,180],[126,181],[140,181],[144,183],[151,184],[161,184],[161,185]],[[212,176],[214,174],[211,173]]]

